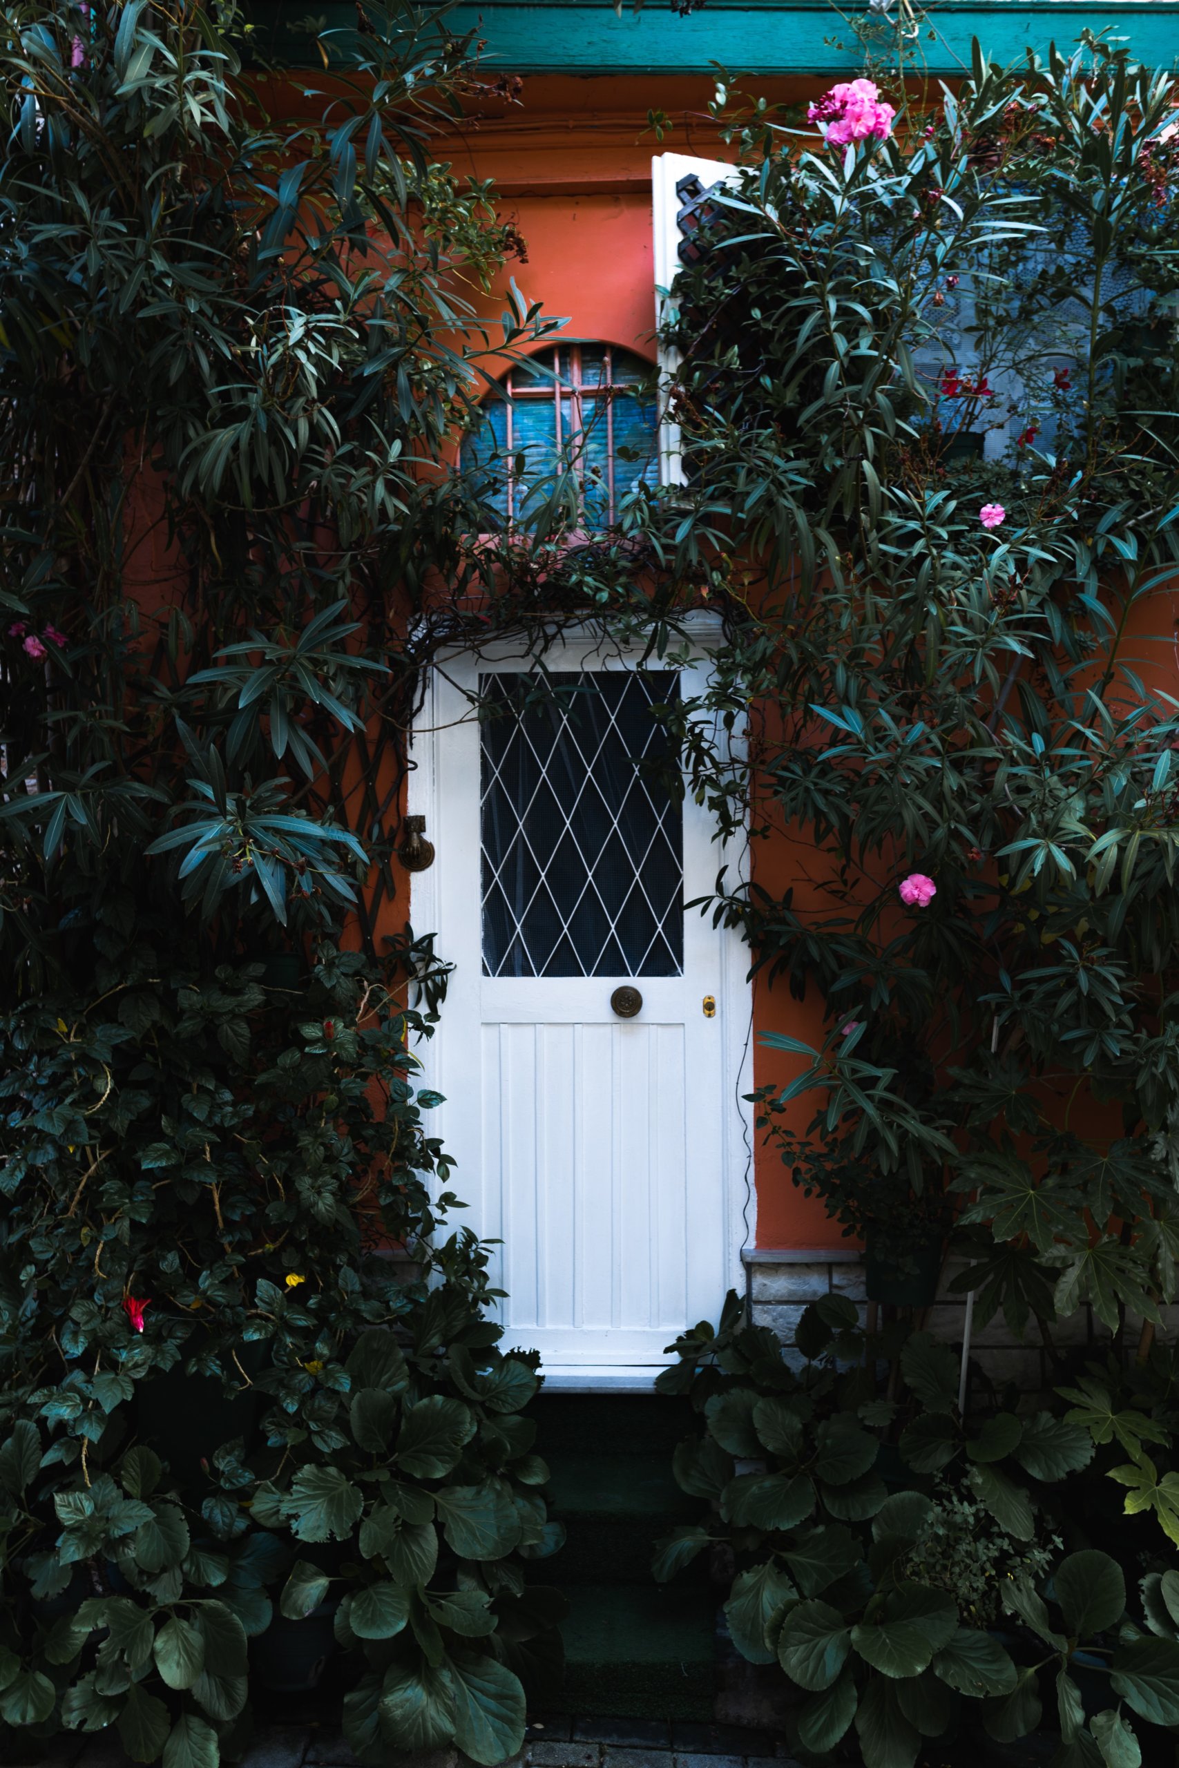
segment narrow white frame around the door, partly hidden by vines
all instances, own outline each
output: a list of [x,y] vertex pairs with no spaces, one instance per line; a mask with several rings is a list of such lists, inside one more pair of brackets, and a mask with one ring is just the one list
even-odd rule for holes
[[[721,622],[718,615],[700,613],[689,617],[686,622],[689,635],[689,644],[695,654],[702,656],[709,651],[709,640],[719,636]],[[585,645],[590,633],[594,640],[599,638],[599,629],[592,626],[569,628],[562,638],[566,645],[576,647]],[[504,640],[486,647],[477,647],[472,651],[456,649],[451,652],[451,659],[472,658],[475,656],[479,663],[493,667],[497,661],[520,659],[527,654],[527,645],[523,640]],[[628,649],[620,645],[612,645],[606,642],[603,654],[626,658]],[[631,647],[629,654],[638,656],[638,647]],[[557,663],[555,667],[560,667]],[[659,663],[652,659],[652,667],[668,667],[668,663]],[[410,758],[414,762],[408,781],[407,781],[407,813],[419,815],[426,819],[426,838],[435,840],[437,857],[435,863],[426,872],[417,872],[410,880],[410,919],[415,934],[438,934],[440,928],[440,911],[442,911],[442,879],[447,865],[445,843],[438,842],[438,831],[442,829],[442,789],[444,781],[438,769],[438,691],[437,681],[438,672],[445,674],[447,658],[445,654],[438,658],[430,668],[430,677],[424,686],[422,709],[414,721],[410,734]],[[472,714],[474,716],[474,714]],[[472,829],[472,838],[477,840],[477,827]],[[728,865],[732,875],[744,875],[746,849],[741,842],[730,842],[725,849],[718,843],[716,847],[716,870],[721,865]],[[479,914],[479,905],[472,903],[472,912]],[[700,911],[693,911],[698,914]],[[442,935],[445,937],[445,935]],[[748,948],[737,930],[718,928],[716,939],[719,946],[719,999],[718,999],[718,1018],[721,1020],[721,1073],[718,1077],[718,1086],[721,1087],[721,1126],[719,1126],[719,1147],[721,1147],[721,1186],[723,1186],[723,1222],[725,1222],[725,1284],[739,1292],[744,1289],[744,1268],[742,1252],[753,1243],[755,1225],[757,1225],[757,1190],[753,1183],[753,1109],[744,1098],[753,1087],[753,988],[749,981],[749,955]],[[444,946],[438,948],[438,956],[445,960],[449,953]],[[440,1075],[442,1063],[440,1054],[445,1048],[447,1034],[447,1004],[442,1004],[440,1024],[435,1029],[433,1038],[428,1043],[419,1045],[419,1057],[422,1061],[422,1080],[424,1084],[433,1084],[431,1075]],[[474,1078],[474,1077],[472,1077]],[[461,1105],[461,1101],[456,1101]],[[445,1140],[445,1130],[444,1140]],[[456,1169],[453,1188],[463,1193],[463,1172]],[[451,1227],[463,1223],[463,1216],[456,1216]],[[719,1305],[723,1296],[716,1298],[716,1310],[719,1315]],[[688,1326],[695,1326],[695,1321],[686,1321]],[[673,1358],[666,1360],[668,1363]],[[619,1367],[583,1367],[576,1372],[551,1372],[548,1374],[548,1386],[555,1388],[578,1388],[585,1391],[608,1390],[608,1391],[650,1391],[654,1376],[658,1374],[658,1365],[643,1365],[631,1368]]]

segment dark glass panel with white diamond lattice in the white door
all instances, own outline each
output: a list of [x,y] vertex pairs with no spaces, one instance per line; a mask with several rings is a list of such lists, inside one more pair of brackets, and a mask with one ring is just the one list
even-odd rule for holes
[[681,806],[652,705],[673,670],[481,675],[486,976],[679,976]]

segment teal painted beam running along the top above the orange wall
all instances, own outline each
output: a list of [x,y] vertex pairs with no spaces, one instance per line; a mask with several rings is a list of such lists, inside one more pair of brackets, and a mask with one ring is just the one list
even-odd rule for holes
[[[306,34],[288,28],[306,18],[306,0],[255,0],[249,16],[263,53],[290,67],[322,65]],[[848,14],[871,16],[852,0]],[[332,55],[355,57],[355,5],[331,0],[315,14],[334,32]],[[880,14],[877,14],[879,18]],[[647,0],[620,16],[608,0],[484,0],[447,14],[456,32],[486,41],[484,67],[537,74],[698,74],[721,64],[746,74],[847,74],[863,50],[827,0],[757,5],[711,0],[681,18],[666,0]],[[970,65],[970,39],[1000,62],[1022,60],[1025,48],[1045,55],[1050,42],[1069,46],[1082,28],[1124,39],[1137,60],[1179,62],[1179,0],[944,0],[928,9],[916,44],[917,65],[955,74]]]

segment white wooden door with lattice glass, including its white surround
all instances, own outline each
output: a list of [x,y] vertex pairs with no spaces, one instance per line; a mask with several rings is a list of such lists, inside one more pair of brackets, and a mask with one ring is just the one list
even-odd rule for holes
[[[504,1345],[539,1349],[557,1384],[643,1386],[739,1282],[746,960],[684,912],[725,857],[707,810],[633,758],[661,741],[650,704],[691,693],[695,667],[567,644],[546,658],[548,704],[529,704],[529,668],[444,665],[415,735],[412,808],[437,859],[414,925],[454,964],[424,1059],[460,1220],[502,1241]],[[472,691],[497,716],[474,716]],[[622,987],[642,995],[629,1018]]]

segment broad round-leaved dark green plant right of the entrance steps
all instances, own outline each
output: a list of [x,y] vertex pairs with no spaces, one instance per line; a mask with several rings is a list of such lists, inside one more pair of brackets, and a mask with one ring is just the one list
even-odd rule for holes
[[[1130,1618],[1115,1559],[1050,1554],[1038,1528],[1045,1494],[1092,1455],[1076,1423],[995,1411],[965,1429],[956,1358],[924,1335],[900,1349],[900,1398],[879,1400],[866,1353],[875,1363],[889,1347],[864,1342],[841,1296],[806,1308],[787,1349],[744,1324],[735,1298],[719,1330],[702,1324],[677,1349],[681,1365],[659,1379],[691,1395],[704,1434],[679,1446],[675,1476],[711,1510],[661,1543],[656,1577],[728,1543],[728,1630],[749,1662],[778,1664],[795,1690],[792,1743],[804,1756],[829,1759],[854,1736],[866,1768],[912,1768],[923,1740],[969,1734],[974,1722],[1006,1743],[1039,1726],[1050,1676],[1061,1768],[1121,1768],[1138,1759],[1135,1724],[1179,1722],[1172,1632],[1151,1635]],[[993,1536],[977,1554],[997,1579],[993,1614],[979,1614],[969,1581],[951,1589],[921,1575],[937,1503],[930,1476],[955,1471],[1009,1543],[1006,1559]],[[1165,1612],[1161,1584],[1151,1604],[1147,1627]],[[1015,1632],[985,1625],[999,1605]],[[1114,1704],[1085,1708],[1078,1651],[1108,1678]]]

